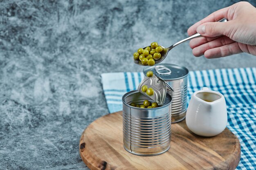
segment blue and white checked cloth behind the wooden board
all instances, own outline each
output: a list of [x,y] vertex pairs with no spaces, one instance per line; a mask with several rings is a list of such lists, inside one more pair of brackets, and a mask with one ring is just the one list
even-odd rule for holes
[[[110,113],[122,110],[121,97],[137,89],[143,73],[104,73],[103,91]],[[216,69],[189,72],[188,103],[191,95],[209,87],[225,96],[227,127],[239,139],[241,160],[238,170],[256,169],[256,68]]]

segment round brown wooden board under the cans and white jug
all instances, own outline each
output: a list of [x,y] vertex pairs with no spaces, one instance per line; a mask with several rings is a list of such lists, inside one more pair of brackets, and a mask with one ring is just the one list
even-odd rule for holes
[[238,138],[226,128],[215,137],[193,134],[182,121],[171,125],[171,148],[141,157],[123,147],[122,112],[105,115],[88,126],[79,152],[91,170],[234,170],[240,161]]

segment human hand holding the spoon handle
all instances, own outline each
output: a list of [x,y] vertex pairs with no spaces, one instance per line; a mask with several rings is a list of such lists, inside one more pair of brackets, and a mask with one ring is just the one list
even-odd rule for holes
[[[216,22],[227,18],[227,22]],[[256,8],[249,2],[238,2],[211,13],[188,29],[204,37],[189,43],[193,55],[206,58],[226,57],[232,54],[256,55]]]

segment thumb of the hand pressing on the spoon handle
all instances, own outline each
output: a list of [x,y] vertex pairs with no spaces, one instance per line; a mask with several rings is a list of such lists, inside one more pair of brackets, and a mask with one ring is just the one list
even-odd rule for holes
[[205,22],[197,27],[196,31],[206,37],[225,35],[229,29],[227,22]]

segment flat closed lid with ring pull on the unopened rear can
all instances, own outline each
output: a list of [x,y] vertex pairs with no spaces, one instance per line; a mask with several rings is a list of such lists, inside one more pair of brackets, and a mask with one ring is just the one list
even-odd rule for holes
[[144,75],[146,75],[148,71],[153,71],[154,75],[157,75],[164,80],[182,79],[189,74],[189,70],[186,67],[178,64],[160,64],[146,67],[143,69]]

